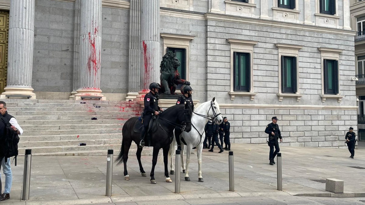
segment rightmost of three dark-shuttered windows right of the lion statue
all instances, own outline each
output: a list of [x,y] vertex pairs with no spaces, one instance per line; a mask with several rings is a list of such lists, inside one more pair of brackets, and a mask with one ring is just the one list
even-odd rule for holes
[[323,59],[324,94],[338,94],[338,61]]

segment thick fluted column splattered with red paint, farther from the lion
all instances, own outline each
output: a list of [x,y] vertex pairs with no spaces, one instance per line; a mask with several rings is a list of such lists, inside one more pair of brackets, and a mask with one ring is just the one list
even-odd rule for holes
[[81,0],[80,67],[74,100],[80,100],[81,96],[103,97],[100,89],[101,17],[101,0]]

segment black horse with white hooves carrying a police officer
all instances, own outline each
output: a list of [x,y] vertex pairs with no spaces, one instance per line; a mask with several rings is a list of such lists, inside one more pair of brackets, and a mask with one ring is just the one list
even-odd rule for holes
[[[174,105],[164,112],[160,113],[158,116],[158,128],[155,132],[149,132],[151,139],[151,146],[153,147],[153,157],[152,157],[152,169],[151,169],[151,183],[155,184],[154,170],[157,163],[158,152],[162,148],[164,154],[164,164],[165,164],[165,177],[166,182],[172,182],[169,177],[169,172],[167,168],[168,163],[168,153],[170,149],[170,143],[173,140],[173,130],[175,128],[184,129],[186,132],[191,131],[191,117],[192,109],[188,104],[185,105]],[[120,153],[116,161],[118,165],[122,162],[124,163],[124,179],[129,180],[129,175],[127,171],[127,160],[128,151],[131,147],[132,141],[136,144],[139,143],[140,133],[134,132],[134,124],[138,120],[138,117],[132,117],[126,121],[123,125],[123,140],[122,147],[120,148]],[[137,146],[138,147],[138,146]],[[141,163],[141,152],[142,148],[137,149],[137,159],[139,163],[139,170],[143,177],[146,177],[146,172],[143,170]]]

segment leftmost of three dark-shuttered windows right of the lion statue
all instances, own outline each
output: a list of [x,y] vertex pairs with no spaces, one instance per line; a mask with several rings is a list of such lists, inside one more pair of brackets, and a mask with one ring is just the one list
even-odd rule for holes
[[233,52],[234,91],[250,92],[250,53]]

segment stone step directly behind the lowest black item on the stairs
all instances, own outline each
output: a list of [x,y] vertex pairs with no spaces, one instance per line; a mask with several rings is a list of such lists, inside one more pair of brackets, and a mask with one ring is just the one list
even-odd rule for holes
[[87,146],[95,144],[122,144],[122,139],[23,141],[19,142],[18,147],[76,146],[80,143],[86,143]]

